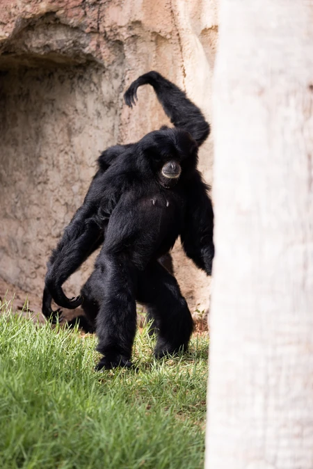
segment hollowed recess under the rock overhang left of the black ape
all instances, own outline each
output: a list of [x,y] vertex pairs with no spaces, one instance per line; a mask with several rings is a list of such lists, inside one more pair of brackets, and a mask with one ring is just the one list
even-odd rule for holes
[[51,248],[118,128],[120,72],[83,53],[79,34],[46,18],[0,50],[0,277],[38,296]]

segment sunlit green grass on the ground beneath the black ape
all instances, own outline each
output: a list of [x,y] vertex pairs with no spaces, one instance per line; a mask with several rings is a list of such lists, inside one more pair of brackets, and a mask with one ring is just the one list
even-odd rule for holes
[[157,362],[143,330],[138,372],[95,373],[95,337],[0,308],[1,469],[203,467],[207,335]]

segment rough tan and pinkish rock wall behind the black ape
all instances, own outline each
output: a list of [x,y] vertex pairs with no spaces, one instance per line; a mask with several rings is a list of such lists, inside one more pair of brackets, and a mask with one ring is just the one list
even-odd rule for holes
[[[51,248],[83,200],[101,150],[167,123],[152,88],[122,102],[139,74],[158,70],[211,122],[217,0],[2,0],[0,4],[0,276],[40,295]],[[200,151],[211,182],[213,138]],[[209,279],[174,248],[193,311]],[[65,286],[79,292],[93,260]]]

